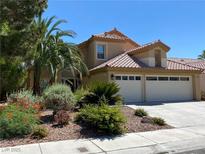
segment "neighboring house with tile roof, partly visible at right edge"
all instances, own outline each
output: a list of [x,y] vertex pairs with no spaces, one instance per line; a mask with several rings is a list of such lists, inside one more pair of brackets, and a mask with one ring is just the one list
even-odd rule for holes
[[171,58],[172,60],[183,63],[192,67],[202,69],[203,72],[200,75],[201,91],[205,92],[205,60],[201,59],[189,59],[189,58]]

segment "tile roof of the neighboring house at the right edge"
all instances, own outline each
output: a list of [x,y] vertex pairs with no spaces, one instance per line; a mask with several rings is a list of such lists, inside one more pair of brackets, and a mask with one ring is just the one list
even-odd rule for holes
[[175,62],[179,62],[182,64],[186,64],[188,66],[191,66],[191,67],[202,69],[204,70],[203,73],[205,73],[205,60],[190,59],[190,58],[170,58],[170,59]]

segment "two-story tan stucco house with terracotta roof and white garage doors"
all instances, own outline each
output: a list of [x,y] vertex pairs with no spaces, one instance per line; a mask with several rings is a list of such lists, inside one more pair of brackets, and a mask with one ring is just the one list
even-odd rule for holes
[[167,58],[160,40],[140,45],[116,29],[79,44],[90,81],[114,81],[126,103],[200,100],[201,68]]

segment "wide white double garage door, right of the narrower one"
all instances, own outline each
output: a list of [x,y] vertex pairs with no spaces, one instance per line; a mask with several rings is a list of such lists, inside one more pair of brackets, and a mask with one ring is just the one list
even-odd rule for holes
[[191,76],[146,76],[145,88],[147,102],[193,100]]

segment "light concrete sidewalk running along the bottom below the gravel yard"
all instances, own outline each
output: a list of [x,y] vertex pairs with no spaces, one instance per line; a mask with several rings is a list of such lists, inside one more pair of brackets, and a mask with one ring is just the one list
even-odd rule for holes
[[153,154],[205,148],[205,125],[0,148],[0,154]]

